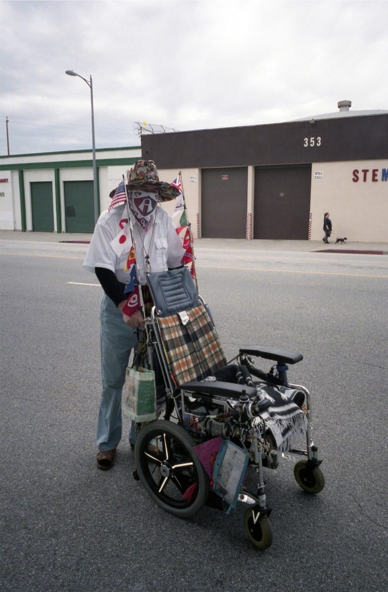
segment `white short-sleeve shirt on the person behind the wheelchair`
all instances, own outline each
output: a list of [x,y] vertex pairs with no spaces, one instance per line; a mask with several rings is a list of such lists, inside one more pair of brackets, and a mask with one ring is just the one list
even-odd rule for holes
[[[110,212],[105,210],[98,218],[91,242],[86,252],[84,268],[94,273],[96,267],[110,269],[116,275],[118,281],[126,284],[129,281],[129,270],[124,271],[129,249],[132,246],[129,240],[120,256],[117,256],[111,247],[111,242],[128,223],[128,212],[124,205],[113,208]],[[145,255],[149,254],[151,271],[167,271],[181,265],[184,255],[182,241],[179,238],[174,223],[168,213],[161,207],[155,210],[155,223],[151,221],[146,231],[139,229],[132,216],[134,242],[137,254],[137,267],[140,274],[140,282],[145,281]]]

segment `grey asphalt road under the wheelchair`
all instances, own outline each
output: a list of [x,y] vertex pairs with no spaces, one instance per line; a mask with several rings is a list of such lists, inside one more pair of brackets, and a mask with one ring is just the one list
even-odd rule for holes
[[101,289],[85,244],[0,241],[1,581],[9,592],[383,592],[387,575],[388,256],[198,247],[226,355],[299,350],[326,487],[267,470],[274,543],[244,506],[179,520],[132,478],[125,436],[95,466]]

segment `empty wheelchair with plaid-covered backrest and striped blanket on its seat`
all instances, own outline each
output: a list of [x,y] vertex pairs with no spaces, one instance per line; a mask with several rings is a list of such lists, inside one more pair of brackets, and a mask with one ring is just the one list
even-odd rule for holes
[[[246,504],[248,539],[267,549],[273,535],[264,469],[300,456],[294,477],[302,490],[314,495],[325,485],[309,391],[287,377],[288,365],[303,356],[254,345],[227,362],[188,269],[146,276],[152,308],[138,353],[156,373],[158,403],[160,393],[165,401],[155,420],[136,423],[133,476],[157,506],[180,518],[204,505],[228,514]],[[256,358],[272,362],[268,372]],[[256,474],[254,491],[246,485],[248,469]]]

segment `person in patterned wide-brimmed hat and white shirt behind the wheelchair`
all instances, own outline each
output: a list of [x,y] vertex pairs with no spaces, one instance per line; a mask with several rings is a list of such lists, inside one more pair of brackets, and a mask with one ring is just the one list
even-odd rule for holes
[[[121,440],[121,397],[126,369],[131,351],[137,347],[137,332],[144,327],[144,311],[128,306],[130,298],[125,291],[130,282],[127,262],[129,253],[133,252],[130,234],[123,232],[129,224],[128,215],[132,220],[142,289],[146,271],[180,267],[184,255],[171,217],[159,207],[160,202],[176,198],[178,189],[159,181],[158,169],[152,160],[138,160],[134,164],[128,172],[126,187],[129,208],[122,182],[110,207],[98,218],[84,261],[84,268],[97,275],[104,290],[100,308],[102,390],[97,420],[97,466],[102,470],[114,464]],[[123,242],[127,243],[124,249]],[[133,427],[132,422],[130,442]]]

